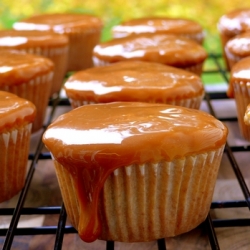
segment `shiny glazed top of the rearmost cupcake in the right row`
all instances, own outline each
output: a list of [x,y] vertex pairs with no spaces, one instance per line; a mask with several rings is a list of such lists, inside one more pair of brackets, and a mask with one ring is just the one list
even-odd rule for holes
[[250,8],[236,9],[223,15],[218,22],[218,29],[228,36],[250,30]]

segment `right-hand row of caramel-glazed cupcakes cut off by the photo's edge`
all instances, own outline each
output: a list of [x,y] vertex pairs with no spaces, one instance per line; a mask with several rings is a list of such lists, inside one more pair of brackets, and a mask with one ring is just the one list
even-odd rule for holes
[[250,126],[245,122],[250,104],[250,8],[236,9],[223,15],[218,21],[218,31],[230,72],[227,94],[235,99],[242,137],[250,141]]

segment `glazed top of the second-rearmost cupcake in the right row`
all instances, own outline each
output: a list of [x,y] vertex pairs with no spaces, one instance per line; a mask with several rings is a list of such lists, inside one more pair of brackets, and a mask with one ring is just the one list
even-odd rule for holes
[[[250,19],[249,19],[250,20]],[[225,46],[227,53],[234,56],[246,57],[250,55],[250,29],[231,38]]]

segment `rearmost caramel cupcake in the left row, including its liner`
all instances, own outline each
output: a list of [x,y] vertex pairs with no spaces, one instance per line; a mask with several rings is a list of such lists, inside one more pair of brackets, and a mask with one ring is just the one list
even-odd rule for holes
[[99,43],[103,23],[88,14],[54,13],[32,16],[16,22],[17,30],[52,30],[69,38],[68,71],[93,66],[92,50]]

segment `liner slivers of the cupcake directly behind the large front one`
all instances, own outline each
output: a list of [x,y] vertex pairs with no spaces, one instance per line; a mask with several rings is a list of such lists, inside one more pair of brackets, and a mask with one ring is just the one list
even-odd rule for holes
[[[178,99],[178,100],[172,100],[167,101],[167,104],[187,107],[187,108],[193,108],[193,109],[199,109],[201,102],[203,100],[204,95],[196,96],[193,98],[186,98],[186,99]],[[89,105],[89,104],[96,104],[96,102],[93,101],[86,101],[86,100],[73,100],[72,98],[69,98],[69,102],[71,104],[72,108],[78,108],[83,105]]]

